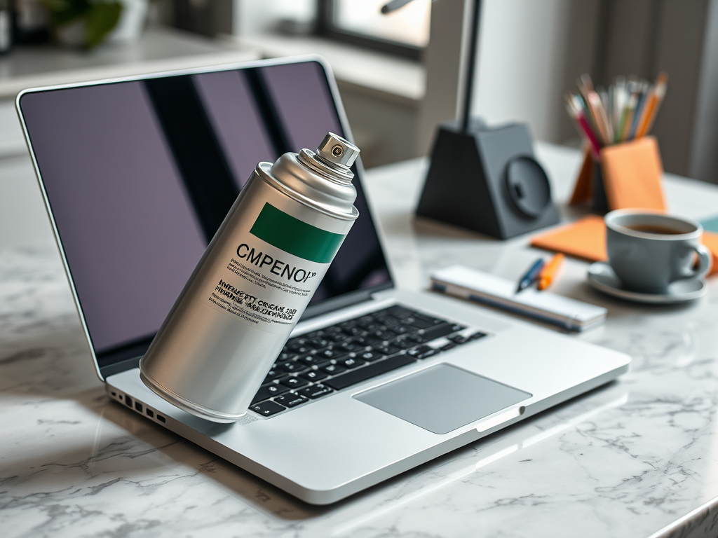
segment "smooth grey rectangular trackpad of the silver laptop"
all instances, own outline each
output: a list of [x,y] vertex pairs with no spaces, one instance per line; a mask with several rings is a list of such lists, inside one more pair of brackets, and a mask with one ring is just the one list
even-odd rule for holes
[[355,398],[433,433],[449,433],[531,397],[528,392],[437,364]]

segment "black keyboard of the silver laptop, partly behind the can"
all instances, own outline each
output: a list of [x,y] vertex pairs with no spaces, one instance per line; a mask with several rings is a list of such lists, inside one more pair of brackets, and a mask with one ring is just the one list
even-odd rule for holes
[[391,306],[287,341],[250,410],[270,417],[485,333]]

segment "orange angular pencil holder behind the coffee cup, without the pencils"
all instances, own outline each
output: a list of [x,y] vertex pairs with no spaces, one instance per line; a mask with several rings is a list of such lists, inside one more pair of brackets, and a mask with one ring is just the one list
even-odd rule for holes
[[591,201],[601,214],[627,208],[666,210],[656,138],[645,136],[607,146],[599,157],[596,161],[590,151],[584,154],[569,205]]

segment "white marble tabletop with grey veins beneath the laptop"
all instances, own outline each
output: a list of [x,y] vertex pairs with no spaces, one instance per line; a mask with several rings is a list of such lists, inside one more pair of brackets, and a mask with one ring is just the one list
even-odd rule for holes
[[[565,197],[577,156],[546,146],[541,156]],[[526,237],[413,223],[421,167],[368,181],[401,285],[424,287],[449,263],[514,276],[536,256]],[[667,190],[676,212],[718,211],[718,189]],[[630,373],[317,508],[110,402],[57,254],[1,251],[0,536],[716,536],[717,283],[696,303],[648,308],[591,291],[585,269],[570,260],[555,291],[609,308],[605,326],[579,337],[631,354]]]

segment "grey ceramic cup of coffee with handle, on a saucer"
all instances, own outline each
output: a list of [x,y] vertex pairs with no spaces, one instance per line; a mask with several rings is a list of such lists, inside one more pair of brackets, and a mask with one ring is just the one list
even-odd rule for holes
[[711,254],[701,245],[703,227],[694,220],[617,209],[605,222],[608,263],[630,291],[668,293],[676,280],[703,278],[710,269]]

